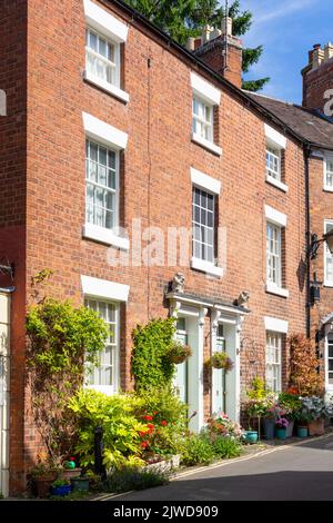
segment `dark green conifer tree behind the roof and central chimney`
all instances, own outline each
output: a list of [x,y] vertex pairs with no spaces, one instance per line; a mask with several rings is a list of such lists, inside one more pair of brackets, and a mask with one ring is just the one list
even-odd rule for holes
[[[184,45],[189,37],[200,36],[205,24],[221,27],[225,13],[220,0],[127,0],[127,2],[181,45]],[[250,30],[253,16],[248,10],[241,10],[240,0],[232,2],[228,14],[233,19],[233,33],[236,37]],[[243,49],[244,73],[260,60],[262,52],[263,46]],[[243,80],[243,89],[259,91],[269,80],[270,78]]]

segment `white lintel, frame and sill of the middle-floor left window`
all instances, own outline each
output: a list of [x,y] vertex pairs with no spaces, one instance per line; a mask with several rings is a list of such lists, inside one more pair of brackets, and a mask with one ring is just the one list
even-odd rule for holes
[[[120,248],[122,250],[130,249],[129,238],[120,234],[119,228],[119,151],[127,148],[128,145],[128,135],[115,127],[110,126],[109,124],[99,120],[98,118],[88,115],[87,112],[82,114],[83,128],[85,132],[85,139],[93,141],[100,146],[107,147],[108,149],[114,151],[115,162],[117,162],[117,204],[115,204],[115,219],[113,229],[108,229],[105,227],[100,227],[94,224],[85,224],[83,226],[83,237],[88,239],[93,239],[95,241]],[[85,181],[87,187],[87,181]],[[85,214],[87,216],[87,214]]]

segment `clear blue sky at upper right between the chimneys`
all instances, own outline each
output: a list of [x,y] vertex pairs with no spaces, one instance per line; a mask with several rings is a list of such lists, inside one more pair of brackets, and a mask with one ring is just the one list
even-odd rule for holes
[[241,9],[253,13],[252,28],[242,37],[244,46],[264,46],[245,78],[270,77],[261,93],[301,103],[307,51],[314,43],[333,41],[333,0],[241,0]]

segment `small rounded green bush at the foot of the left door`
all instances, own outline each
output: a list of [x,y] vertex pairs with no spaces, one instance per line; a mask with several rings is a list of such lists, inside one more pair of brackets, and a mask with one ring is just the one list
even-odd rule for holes
[[208,465],[215,457],[210,438],[205,434],[191,434],[183,441],[182,463],[184,465]]

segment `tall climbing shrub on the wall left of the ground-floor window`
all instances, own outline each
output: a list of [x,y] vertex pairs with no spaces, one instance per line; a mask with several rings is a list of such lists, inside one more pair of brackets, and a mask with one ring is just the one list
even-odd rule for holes
[[51,298],[30,308],[26,326],[32,414],[46,460],[59,465],[77,438],[68,402],[82,385],[84,361],[97,363],[108,327],[93,310]]

